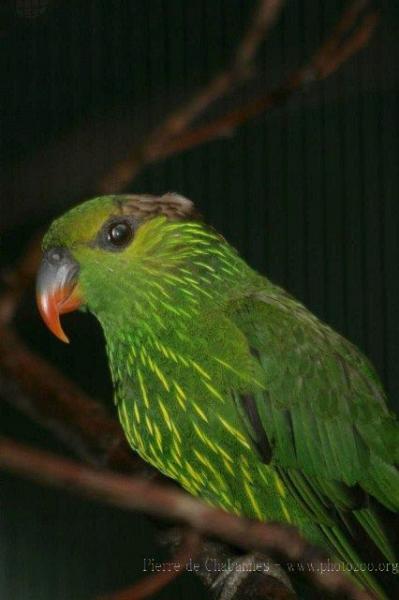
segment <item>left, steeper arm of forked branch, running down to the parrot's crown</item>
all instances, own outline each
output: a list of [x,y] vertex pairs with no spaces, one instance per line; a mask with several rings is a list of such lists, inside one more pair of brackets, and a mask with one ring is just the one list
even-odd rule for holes
[[181,136],[213,103],[230,94],[253,74],[256,53],[277,20],[283,4],[284,0],[259,1],[230,67],[216,75],[187,104],[168,116],[138,149],[133,150],[132,156],[113,167],[100,182],[100,191],[107,193],[122,189],[144,165],[162,156],[170,140]]

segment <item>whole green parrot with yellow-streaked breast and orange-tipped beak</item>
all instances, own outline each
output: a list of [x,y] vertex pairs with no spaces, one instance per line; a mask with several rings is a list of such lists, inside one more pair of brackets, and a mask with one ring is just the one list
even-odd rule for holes
[[177,194],[84,202],[43,250],[40,312],[64,341],[60,314],[99,320],[132,448],[208,503],[295,525],[385,598],[358,566],[396,561],[399,427],[359,350]]

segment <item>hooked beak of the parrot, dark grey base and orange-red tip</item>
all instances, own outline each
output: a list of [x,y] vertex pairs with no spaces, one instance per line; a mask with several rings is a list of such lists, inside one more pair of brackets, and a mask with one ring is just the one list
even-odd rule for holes
[[36,279],[36,301],[47,327],[68,343],[60,315],[72,312],[82,304],[78,286],[79,263],[66,248],[52,248],[42,259]]

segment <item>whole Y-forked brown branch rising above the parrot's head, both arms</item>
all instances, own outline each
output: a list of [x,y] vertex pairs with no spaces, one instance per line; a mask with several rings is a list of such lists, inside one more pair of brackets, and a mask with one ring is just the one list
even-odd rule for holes
[[100,181],[99,191],[118,192],[146,165],[231,133],[246,121],[284,104],[295,92],[305,89],[310,83],[325,79],[366,46],[379,19],[379,13],[370,9],[369,2],[356,0],[344,11],[331,35],[311,59],[277,88],[245,102],[222,117],[190,128],[194,118],[202,116],[210,104],[230,93],[242,81],[243,74],[251,66],[262,34],[264,36],[274,23],[281,7],[282,3],[276,0],[260,3],[237,50],[233,67],[217,76],[197,97],[150,133],[130,156],[112,167]]

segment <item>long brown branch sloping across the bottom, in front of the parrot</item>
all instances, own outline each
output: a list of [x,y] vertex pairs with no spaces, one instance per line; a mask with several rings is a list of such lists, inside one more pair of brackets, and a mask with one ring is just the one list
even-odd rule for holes
[[181,523],[239,548],[259,550],[294,564],[312,564],[313,569],[305,570],[304,575],[320,588],[345,593],[356,600],[372,598],[338,567],[331,568],[333,563],[328,562],[327,556],[304,540],[294,527],[251,521],[208,506],[171,485],[94,470],[4,437],[0,437],[0,469],[111,506]]

